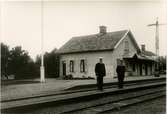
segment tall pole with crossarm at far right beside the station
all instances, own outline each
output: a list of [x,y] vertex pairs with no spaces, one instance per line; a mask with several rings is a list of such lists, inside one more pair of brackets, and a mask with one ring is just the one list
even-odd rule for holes
[[158,17],[156,19],[156,22],[153,24],[149,24],[148,26],[155,26],[155,50],[156,50],[156,65],[155,65],[155,76],[159,76],[159,26],[160,25],[166,25],[166,24],[159,24]]

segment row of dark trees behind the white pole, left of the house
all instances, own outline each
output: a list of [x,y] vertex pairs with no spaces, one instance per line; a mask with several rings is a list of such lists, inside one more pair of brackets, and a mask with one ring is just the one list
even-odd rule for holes
[[[59,55],[56,51],[57,49],[54,49],[50,53],[44,54],[46,77],[59,76]],[[5,76],[7,79],[9,75],[14,75],[15,79],[36,78],[39,77],[40,65],[39,55],[34,62],[21,46],[9,50],[9,46],[1,43],[1,76]]]

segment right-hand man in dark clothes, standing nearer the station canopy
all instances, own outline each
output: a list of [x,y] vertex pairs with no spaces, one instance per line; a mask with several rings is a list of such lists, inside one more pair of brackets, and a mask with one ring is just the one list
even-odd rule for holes
[[118,75],[118,88],[123,88],[125,77],[125,66],[123,65],[123,61],[120,61],[120,65],[117,66],[116,72]]

